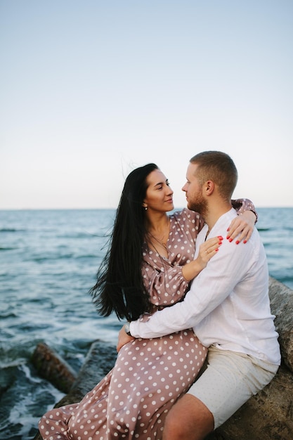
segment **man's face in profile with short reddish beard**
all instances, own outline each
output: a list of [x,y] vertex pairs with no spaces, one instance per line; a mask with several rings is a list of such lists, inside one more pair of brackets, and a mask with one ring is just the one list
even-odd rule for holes
[[187,207],[192,211],[204,214],[207,211],[207,200],[202,193],[202,185],[196,176],[197,164],[189,164],[186,173],[186,183],[182,190],[185,192]]

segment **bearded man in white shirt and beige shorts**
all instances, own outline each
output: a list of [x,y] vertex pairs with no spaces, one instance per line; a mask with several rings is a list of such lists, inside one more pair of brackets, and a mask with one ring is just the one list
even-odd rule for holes
[[[188,208],[206,222],[197,236],[226,235],[236,216],[230,205],[237,169],[225,153],[195,155],[183,186]],[[243,245],[223,240],[221,250],[193,280],[183,302],[133,321],[119,333],[118,349],[131,337],[159,337],[193,327],[209,347],[207,369],[170,410],[164,440],[199,440],[219,427],[266,386],[280,365],[278,333],[268,298],[268,267],[258,231]],[[127,335],[126,335],[127,332]]]

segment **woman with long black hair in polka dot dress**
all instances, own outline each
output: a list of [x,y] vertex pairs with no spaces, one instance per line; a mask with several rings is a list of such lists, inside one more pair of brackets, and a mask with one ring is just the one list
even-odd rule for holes
[[[119,319],[131,321],[180,301],[190,280],[218,252],[222,238],[211,238],[193,261],[204,222],[188,209],[167,215],[174,209],[172,196],[155,164],[135,169],[126,178],[110,246],[91,289],[103,316],[115,311]],[[254,208],[247,201],[244,205],[241,212]],[[255,220],[254,214],[248,215]],[[239,231],[248,239],[252,228],[237,220],[230,228],[231,240]],[[191,329],[134,339],[81,402],[41,418],[43,439],[162,439],[169,408],[193,383],[206,354]]]

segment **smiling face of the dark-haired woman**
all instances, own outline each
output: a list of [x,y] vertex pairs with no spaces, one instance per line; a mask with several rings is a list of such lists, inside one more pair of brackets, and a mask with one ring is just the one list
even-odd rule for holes
[[169,212],[174,209],[173,191],[162,171],[159,169],[152,171],[146,182],[148,189],[143,200],[144,207],[158,212]]

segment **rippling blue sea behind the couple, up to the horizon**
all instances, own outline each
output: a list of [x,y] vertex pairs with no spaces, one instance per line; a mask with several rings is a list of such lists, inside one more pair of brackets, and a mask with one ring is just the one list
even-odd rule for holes
[[[293,207],[259,208],[269,273],[293,289]],[[37,375],[45,342],[76,371],[96,339],[116,345],[116,316],[98,316],[89,289],[115,209],[0,211],[0,439],[31,440],[63,397]]]

